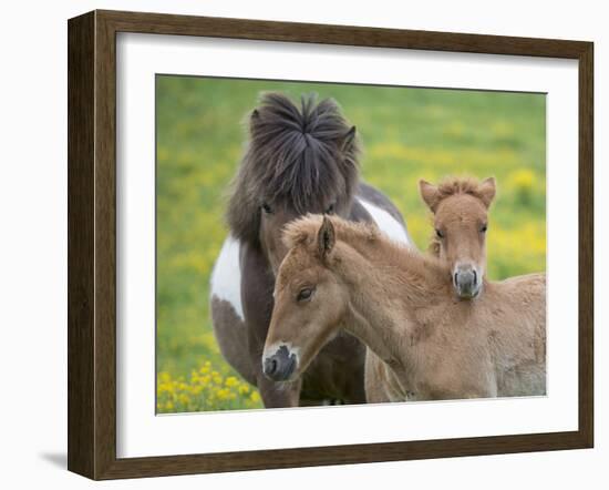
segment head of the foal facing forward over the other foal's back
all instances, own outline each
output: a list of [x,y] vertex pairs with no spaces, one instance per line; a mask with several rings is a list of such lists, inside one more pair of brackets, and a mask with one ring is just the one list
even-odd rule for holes
[[477,296],[486,268],[486,229],[495,178],[481,183],[452,178],[437,186],[420,181],[419,185],[434,214],[435,246],[451,266],[456,294],[464,299]]

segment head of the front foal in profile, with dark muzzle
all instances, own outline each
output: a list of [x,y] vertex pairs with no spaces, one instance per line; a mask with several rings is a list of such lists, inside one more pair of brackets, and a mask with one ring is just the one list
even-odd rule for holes
[[317,242],[292,247],[279,267],[262,354],[262,370],[275,381],[298,378],[336,335],[347,310],[347,290],[327,267],[334,242],[329,221]]

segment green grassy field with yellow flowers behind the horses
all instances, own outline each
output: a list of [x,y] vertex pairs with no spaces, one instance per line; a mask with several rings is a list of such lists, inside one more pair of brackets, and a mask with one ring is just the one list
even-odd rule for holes
[[398,205],[420,248],[432,228],[419,178],[494,175],[489,277],[546,267],[544,95],[158,76],[158,412],[261,407],[219,354],[208,293],[227,234],[225,193],[247,136],[242,121],[264,91],[340,103],[363,141],[363,177]]

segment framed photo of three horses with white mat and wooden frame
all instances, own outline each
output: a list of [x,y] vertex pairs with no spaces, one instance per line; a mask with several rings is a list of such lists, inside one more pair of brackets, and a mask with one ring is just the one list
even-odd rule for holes
[[592,447],[592,43],[69,21],[69,469]]

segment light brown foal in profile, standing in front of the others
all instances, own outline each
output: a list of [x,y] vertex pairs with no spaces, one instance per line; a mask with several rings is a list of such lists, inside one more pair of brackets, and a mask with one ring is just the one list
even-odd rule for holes
[[[369,401],[546,392],[545,274],[487,283],[455,299],[447,265],[375,226],[307,216],[288,225],[265,371],[296,379],[339,330],[375,356]],[[380,359],[374,361],[374,359]]]

